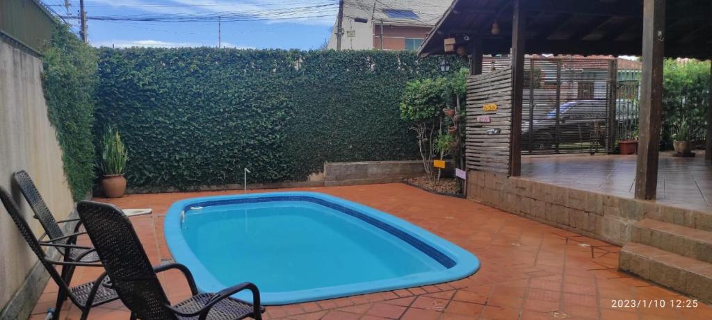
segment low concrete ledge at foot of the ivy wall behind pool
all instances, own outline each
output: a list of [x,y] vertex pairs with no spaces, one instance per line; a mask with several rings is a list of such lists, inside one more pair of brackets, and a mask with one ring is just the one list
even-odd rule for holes
[[424,174],[422,161],[327,162],[324,186],[393,183]]

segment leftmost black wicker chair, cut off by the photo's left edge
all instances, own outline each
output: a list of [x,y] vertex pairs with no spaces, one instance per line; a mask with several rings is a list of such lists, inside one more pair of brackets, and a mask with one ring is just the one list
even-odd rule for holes
[[[18,230],[20,231],[25,241],[30,246],[37,258],[45,267],[50,276],[57,283],[59,287],[59,295],[63,297],[69,297],[69,299],[76,304],[79,309],[82,310],[81,319],[87,319],[89,311],[93,306],[98,306],[100,304],[105,304],[107,302],[112,302],[119,299],[118,295],[113,289],[108,287],[109,277],[106,274],[102,274],[95,282],[88,282],[85,284],[80,284],[75,287],[70,287],[70,282],[66,279],[67,275],[60,275],[56,266],[61,265],[62,270],[66,267],[76,267],[76,266],[90,266],[90,267],[101,267],[102,265],[98,263],[87,263],[87,262],[74,262],[74,261],[57,261],[52,260],[46,255],[46,252],[42,249],[43,246],[58,247],[61,249],[76,249],[76,250],[89,250],[90,247],[80,247],[78,245],[70,244],[60,244],[53,242],[43,242],[37,240],[32,230],[29,228],[27,221],[23,218],[20,209],[16,203],[11,199],[7,191],[0,187],[0,201],[5,206],[5,209],[10,214],[10,217],[14,221]],[[59,301],[59,299],[58,299]],[[59,307],[53,313],[53,319],[59,319],[59,313],[61,311],[61,303]]]

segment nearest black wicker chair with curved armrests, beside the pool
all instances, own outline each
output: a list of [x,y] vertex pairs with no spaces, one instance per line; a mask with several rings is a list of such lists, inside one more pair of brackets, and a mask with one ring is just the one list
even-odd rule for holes
[[[80,201],[79,217],[111,278],[111,287],[131,310],[132,319],[239,320],[248,316],[262,319],[257,287],[249,282],[237,284],[218,293],[199,294],[191,272],[184,265],[172,263],[153,268],[130,220],[121,210],[107,203]],[[171,305],[156,272],[177,269],[186,277],[192,297]],[[248,289],[253,304],[231,298]]]

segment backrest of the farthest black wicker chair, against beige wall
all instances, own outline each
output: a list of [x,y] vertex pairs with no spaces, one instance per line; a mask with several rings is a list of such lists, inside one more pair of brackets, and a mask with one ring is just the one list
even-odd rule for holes
[[[35,213],[35,217],[40,220],[42,228],[49,236],[50,239],[60,238],[64,236],[62,228],[57,224],[57,220],[54,219],[52,212],[47,207],[47,204],[42,199],[40,191],[37,190],[35,183],[30,178],[30,175],[26,171],[20,170],[15,171],[12,174],[12,178],[19,186],[22,195],[25,197],[27,203],[29,203],[30,208]],[[66,243],[66,240],[59,241],[61,243]]]

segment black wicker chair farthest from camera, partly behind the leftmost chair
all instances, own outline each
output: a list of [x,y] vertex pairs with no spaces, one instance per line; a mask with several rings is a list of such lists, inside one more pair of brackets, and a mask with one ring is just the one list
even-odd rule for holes
[[[43,242],[45,245],[51,245],[56,247],[57,251],[63,256],[65,262],[82,262],[85,264],[95,265],[95,262],[99,262],[99,256],[96,254],[93,247],[71,247],[67,245],[76,245],[77,237],[85,233],[80,232],[81,221],[79,218],[67,219],[67,220],[55,220],[54,215],[47,207],[44,202],[40,192],[37,190],[35,183],[30,178],[30,175],[26,171],[20,170],[15,171],[12,174],[17,186],[20,188],[22,196],[32,208],[34,212],[34,218],[40,221],[42,228],[44,228],[45,233],[40,236],[38,240]],[[62,230],[61,223],[76,223],[73,228],[73,233],[66,234]],[[45,240],[47,238],[47,240]],[[70,283],[74,274],[74,269],[76,265],[63,265],[62,267],[62,279],[65,279],[67,283]],[[55,310],[61,310],[62,304],[67,299],[63,292],[57,294],[57,303]]]

